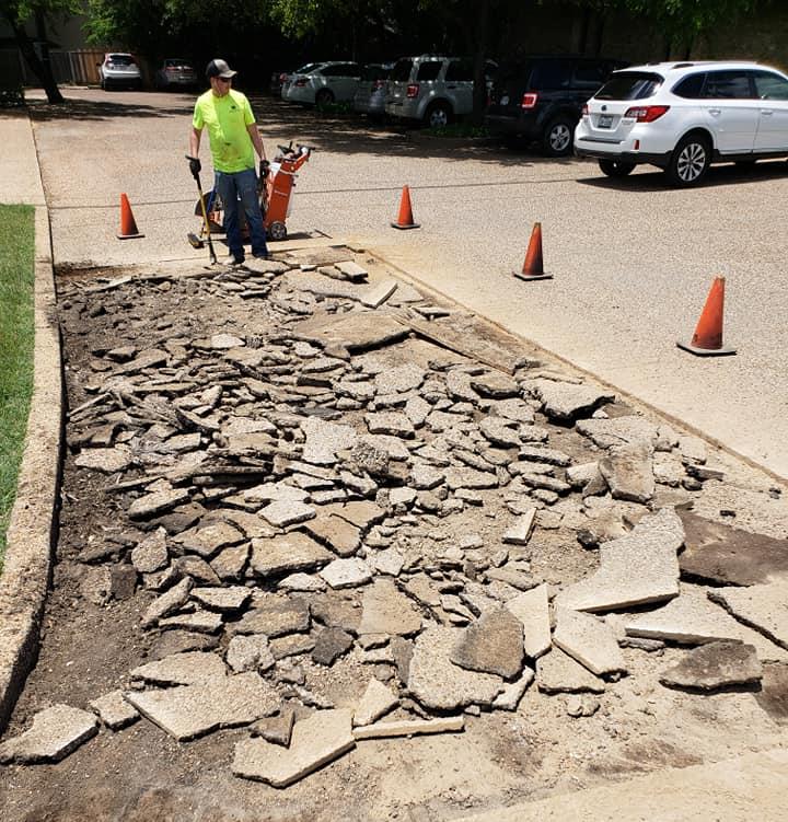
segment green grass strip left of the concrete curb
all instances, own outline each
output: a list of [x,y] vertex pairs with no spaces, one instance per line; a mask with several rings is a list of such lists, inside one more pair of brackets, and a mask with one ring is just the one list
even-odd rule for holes
[[0,205],[0,569],[33,393],[34,217]]

